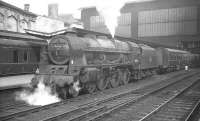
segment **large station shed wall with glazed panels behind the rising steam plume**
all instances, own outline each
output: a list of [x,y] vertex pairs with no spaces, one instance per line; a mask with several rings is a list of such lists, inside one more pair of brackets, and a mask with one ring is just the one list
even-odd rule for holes
[[[83,8],[84,28],[108,33],[95,7]],[[129,2],[121,9],[116,35],[200,53],[200,1]]]

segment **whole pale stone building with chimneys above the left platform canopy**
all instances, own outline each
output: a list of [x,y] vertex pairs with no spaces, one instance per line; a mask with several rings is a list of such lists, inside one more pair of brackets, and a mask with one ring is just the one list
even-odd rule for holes
[[0,0],[0,30],[25,33],[24,29],[54,32],[64,28],[64,22],[58,18],[58,6],[49,5],[48,16],[41,16]]

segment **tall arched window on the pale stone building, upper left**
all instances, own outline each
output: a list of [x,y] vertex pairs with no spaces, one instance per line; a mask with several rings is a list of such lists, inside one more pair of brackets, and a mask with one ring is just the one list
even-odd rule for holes
[[7,21],[7,30],[8,31],[17,31],[17,19],[14,16],[8,17]]

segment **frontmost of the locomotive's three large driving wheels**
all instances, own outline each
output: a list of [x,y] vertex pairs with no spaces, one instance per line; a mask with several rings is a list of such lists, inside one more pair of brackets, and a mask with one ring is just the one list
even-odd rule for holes
[[97,88],[99,90],[105,90],[108,86],[108,81],[106,80],[106,77],[103,74],[97,75]]

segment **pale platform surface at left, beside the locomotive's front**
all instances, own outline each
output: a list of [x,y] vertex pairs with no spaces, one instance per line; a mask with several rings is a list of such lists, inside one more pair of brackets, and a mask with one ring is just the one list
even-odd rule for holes
[[0,77],[0,90],[23,87],[31,81],[33,76],[33,74],[25,74]]

